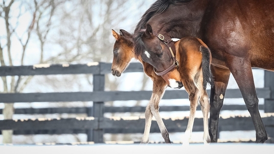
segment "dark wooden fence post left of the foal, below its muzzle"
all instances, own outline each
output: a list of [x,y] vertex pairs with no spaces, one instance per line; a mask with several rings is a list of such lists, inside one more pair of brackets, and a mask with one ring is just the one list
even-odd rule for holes
[[[99,64],[101,72],[101,63]],[[104,91],[105,90],[105,74],[93,74],[93,91]],[[104,141],[104,130],[100,129],[100,121],[104,118],[104,102],[93,102],[91,110],[88,112],[88,116],[98,118],[98,129],[88,131],[88,141],[94,143],[103,143]]]

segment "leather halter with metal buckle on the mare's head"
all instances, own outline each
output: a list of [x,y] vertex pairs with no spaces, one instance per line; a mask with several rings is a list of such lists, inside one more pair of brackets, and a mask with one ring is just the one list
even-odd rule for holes
[[[139,32],[145,32],[145,31],[146,31],[146,29],[140,29]],[[163,41],[164,44],[167,45],[167,47],[169,48],[169,50],[170,50],[170,52],[171,52],[172,59],[173,59],[173,64],[172,64],[171,66],[169,66],[167,69],[165,69],[164,71],[156,72],[155,67],[153,67],[153,70],[154,70],[154,72],[156,73],[156,75],[161,76],[161,75],[164,75],[164,74],[166,74],[167,72],[169,72],[169,71],[170,71],[171,69],[173,69],[174,67],[179,66],[179,62],[176,60],[175,55],[173,54],[173,51],[172,51],[172,49],[171,49],[171,47],[170,47],[170,44],[169,44],[170,42],[172,42],[172,40],[166,40],[166,39],[164,38],[163,35],[161,35],[161,34],[158,35],[158,34],[155,33],[155,32],[153,32],[153,34],[154,34],[156,37],[158,37],[161,41]]]

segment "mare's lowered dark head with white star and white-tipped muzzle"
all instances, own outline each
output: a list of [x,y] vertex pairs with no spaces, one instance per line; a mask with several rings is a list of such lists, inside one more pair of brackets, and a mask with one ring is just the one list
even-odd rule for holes
[[[152,27],[148,24],[147,29],[142,36],[144,50],[140,56],[142,60],[154,66],[155,72],[162,72],[173,65],[173,56],[167,45],[160,40],[163,38],[153,33]],[[172,68],[167,73],[161,74],[162,78],[171,88],[182,88],[183,84],[180,79],[180,74],[176,67]]]

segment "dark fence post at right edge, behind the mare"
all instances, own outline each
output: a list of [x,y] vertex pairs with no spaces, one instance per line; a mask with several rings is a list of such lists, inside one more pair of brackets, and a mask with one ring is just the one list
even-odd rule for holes
[[[274,72],[265,70],[264,73],[264,87],[269,87],[271,90],[270,98],[264,100],[264,111],[266,113],[274,112]],[[268,133],[268,137],[271,138],[267,140],[267,142],[274,143],[274,126],[266,125],[265,128]]]

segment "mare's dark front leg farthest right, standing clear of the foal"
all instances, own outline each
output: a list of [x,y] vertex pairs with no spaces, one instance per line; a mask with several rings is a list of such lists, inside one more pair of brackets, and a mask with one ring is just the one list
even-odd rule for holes
[[263,121],[258,108],[258,97],[256,94],[251,62],[245,58],[230,56],[227,58],[228,67],[237,82],[243,95],[245,104],[251,114],[256,131],[256,143],[264,143],[267,139]]

